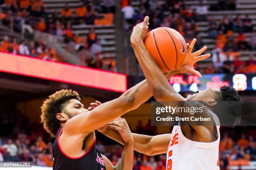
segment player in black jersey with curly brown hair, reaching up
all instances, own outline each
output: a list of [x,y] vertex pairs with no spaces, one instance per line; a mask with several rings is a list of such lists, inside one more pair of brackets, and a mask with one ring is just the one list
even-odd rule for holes
[[[176,72],[166,73],[170,78]],[[82,78],[82,77],[81,77]],[[167,79],[166,79],[167,80]],[[146,80],[127,90],[115,100],[88,110],[80,102],[77,92],[60,90],[50,95],[42,105],[41,122],[45,130],[55,137],[53,145],[54,170],[131,170],[133,168],[133,137],[127,128],[118,128],[124,150],[121,160],[114,167],[95,147],[95,130],[136,109],[146,102]]]

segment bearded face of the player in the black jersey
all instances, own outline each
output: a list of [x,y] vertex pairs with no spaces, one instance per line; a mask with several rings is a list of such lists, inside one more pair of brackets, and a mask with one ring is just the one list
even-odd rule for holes
[[67,104],[67,106],[66,106],[66,111],[67,111],[69,118],[72,118],[76,115],[88,112],[89,110],[87,110],[84,107],[84,105],[81,102],[79,102],[78,100],[70,99],[69,104]]

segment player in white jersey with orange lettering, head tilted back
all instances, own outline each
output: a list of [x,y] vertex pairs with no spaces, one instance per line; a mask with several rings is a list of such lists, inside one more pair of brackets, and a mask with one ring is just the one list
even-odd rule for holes
[[[238,92],[233,87],[225,86],[220,90],[207,88],[197,90],[187,98],[182,97],[169,84],[166,77],[159,69],[156,62],[150,56],[143,44],[148,28],[148,17],[144,22],[137,24],[133,28],[131,35],[131,45],[144,72],[148,87],[154,94],[156,100],[163,101],[207,101],[207,108],[203,110],[204,117],[213,117],[211,126],[174,126],[171,134],[156,136],[140,135],[133,133],[134,149],[146,155],[157,155],[167,153],[166,170],[219,170],[218,148],[220,142],[220,131],[218,117],[210,111],[218,101],[240,101]],[[201,76],[199,72],[193,70],[192,65],[201,58],[210,55],[200,55],[206,50],[203,47],[197,52],[191,53],[195,45],[194,39],[188,47],[183,66],[178,72],[189,72]],[[97,105],[94,104],[94,107]],[[116,119],[108,126],[100,128],[100,132],[108,137],[123,143],[115,130],[120,127],[127,127],[124,119]],[[113,130],[114,129],[114,130]]]

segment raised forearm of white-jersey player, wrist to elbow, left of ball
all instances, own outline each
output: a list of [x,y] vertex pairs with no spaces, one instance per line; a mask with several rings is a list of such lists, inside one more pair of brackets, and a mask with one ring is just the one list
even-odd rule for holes
[[[169,92],[175,92],[174,89],[169,85],[166,77],[161,72],[159,66],[156,64],[154,59],[149,54],[143,41],[131,43],[134,53],[138,59],[141,69],[148,82],[149,90],[154,94],[161,90],[168,90]],[[177,71],[173,71],[177,73]],[[155,95],[155,94],[154,94]]]

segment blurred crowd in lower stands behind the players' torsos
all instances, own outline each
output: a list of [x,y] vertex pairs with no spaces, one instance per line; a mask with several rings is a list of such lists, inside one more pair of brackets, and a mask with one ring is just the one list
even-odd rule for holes
[[[256,161],[256,130],[241,127],[233,129],[220,128],[221,139],[219,145],[220,169],[229,170],[229,165],[248,165],[248,161]],[[170,128],[172,130],[172,127]],[[138,121],[136,129],[132,132],[156,135],[155,126],[151,126],[150,120],[144,126]],[[43,139],[40,131],[25,133],[21,130],[15,138],[4,138],[0,140],[0,162],[3,161],[31,161],[33,165],[49,166],[53,165],[52,145],[53,140]],[[44,136],[44,135],[42,135]],[[97,135],[98,136],[98,135]],[[98,136],[100,138],[100,136]],[[110,159],[113,165],[118,163],[122,155],[121,145],[108,143],[107,137],[97,138],[96,146],[102,155]],[[165,170],[166,155],[147,156],[135,151],[133,170]]]

